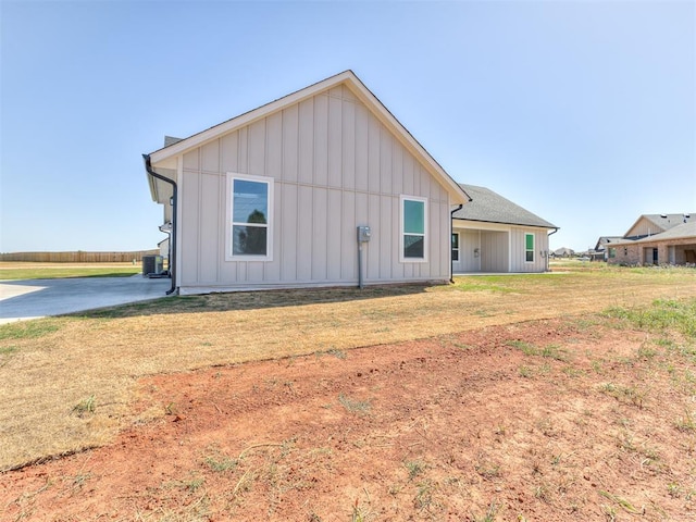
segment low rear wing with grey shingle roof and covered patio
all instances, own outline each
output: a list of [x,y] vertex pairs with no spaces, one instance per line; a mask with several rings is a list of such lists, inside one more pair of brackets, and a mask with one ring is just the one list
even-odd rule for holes
[[493,190],[461,187],[472,201],[452,213],[455,273],[548,270],[549,231],[558,226]]

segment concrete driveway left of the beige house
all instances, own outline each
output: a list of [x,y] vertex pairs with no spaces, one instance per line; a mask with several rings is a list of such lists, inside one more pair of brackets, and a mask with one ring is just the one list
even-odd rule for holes
[[0,281],[0,324],[157,299],[171,285],[141,275]]

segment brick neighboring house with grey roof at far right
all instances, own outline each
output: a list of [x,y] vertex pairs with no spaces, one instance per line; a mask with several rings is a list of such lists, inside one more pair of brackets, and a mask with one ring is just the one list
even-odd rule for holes
[[607,245],[610,264],[696,263],[696,213],[644,214],[624,236]]

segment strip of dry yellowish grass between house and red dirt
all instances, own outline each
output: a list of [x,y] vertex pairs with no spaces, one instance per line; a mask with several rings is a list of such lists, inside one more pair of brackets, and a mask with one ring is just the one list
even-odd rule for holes
[[[694,270],[167,298],[0,327],[0,470],[109,442],[145,375],[397,343],[696,294]],[[88,401],[85,411],[79,405]],[[78,414],[80,413],[80,414]]]

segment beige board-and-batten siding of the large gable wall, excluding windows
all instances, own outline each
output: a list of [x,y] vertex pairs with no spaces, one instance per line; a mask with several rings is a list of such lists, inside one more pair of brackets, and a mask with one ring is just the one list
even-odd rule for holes
[[[181,157],[183,294],[449,277],[448,191],[345,85],[285,107]],[[273,179],[270,261],[229,261],[231,174]],[[427,261],[400,262],[400,196],[427,199]]]

